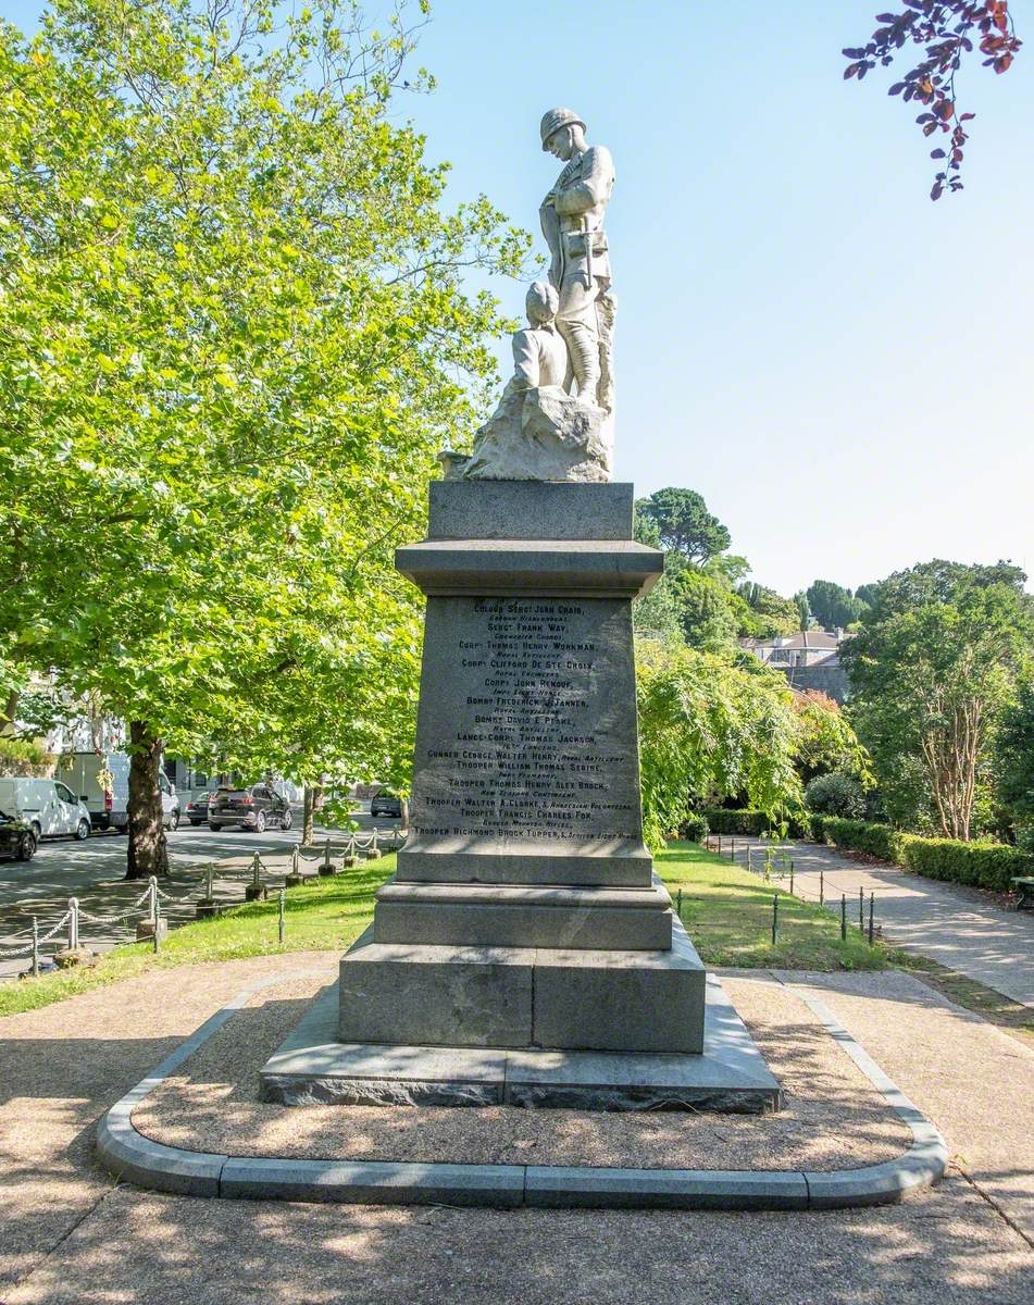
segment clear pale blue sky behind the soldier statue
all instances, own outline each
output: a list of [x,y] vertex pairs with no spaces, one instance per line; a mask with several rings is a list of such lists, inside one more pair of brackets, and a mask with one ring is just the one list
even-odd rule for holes
[[[616,478],[698,489],[782,592],[935,556],[1034,572],[1034,0],[1012,8],[1027,46],[964,72],[940,204],[893,69],[842,81],[879,0],[437,0],[422,35],[439,90],[403,111],[457,200],[535,230],[552,104],[610,146]],[[524,286],[495,288],[518,316]]]

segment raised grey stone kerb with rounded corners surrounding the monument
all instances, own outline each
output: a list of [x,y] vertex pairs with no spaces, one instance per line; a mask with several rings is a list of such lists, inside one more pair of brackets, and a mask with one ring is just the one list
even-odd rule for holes
[[286,971],[238,993],[101,1117],[97,1150],[119,1180],[154,1191],[248,1201],[360,1205],[518,1206],[668,1210],[833,1210],[886,1205],[930,1186],[948,1164],[944,1138],[811,993],[790,990],[819,1018],[909,1125],[913,1144],[894,1160],[859,1169],[625,1169],[582,1165],[407,1164],[231,1156],[166,1146],[138,1133],[136,1107],[255,993],[324,971]]

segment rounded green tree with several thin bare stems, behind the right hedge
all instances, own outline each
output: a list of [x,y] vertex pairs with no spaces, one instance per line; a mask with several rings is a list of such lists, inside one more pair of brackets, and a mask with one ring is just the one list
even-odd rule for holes
[[920,821],[928,803],[945,837],[969,839],[990,743],[1031,634],[1030,599],[1013,585],[987,583],[984,568],[960,566],[935,600],[930,568],[915,572],[896,577],[894,592],[927,600],[884,600],[876,620],[841,646],[851,719],[885,808]]

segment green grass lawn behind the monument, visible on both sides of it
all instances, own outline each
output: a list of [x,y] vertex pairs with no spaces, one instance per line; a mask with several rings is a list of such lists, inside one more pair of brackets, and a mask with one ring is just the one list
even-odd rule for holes
[[[683,923],[709,964],[881,970],[888,963],[884,946],[870,947],[855,928],[841,942],[839,923],[832,915],[786,893],[779,900],[781,940],[773,946],[776,885],[764,885],[696,843],[672,843],[657,857],[657,865],[672,897],[682,887]],[[95,966],[0,984],[0,1015],[48,1006],[155,968],[290,951],[343,951],[369,923],[373,893],[394,868],[394,855],[384,856],[336,878],[313,878],[291,889],[282,946],[277,940],[278,904],[272,897],[174,929],[157,955],[150,944],[127,944]]]

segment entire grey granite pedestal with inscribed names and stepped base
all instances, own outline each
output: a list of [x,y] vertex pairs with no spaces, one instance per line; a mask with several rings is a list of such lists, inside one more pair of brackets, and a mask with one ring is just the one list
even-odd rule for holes
[[333,1053],[298,1030],[266,1092],[777,1108],[642,842],[632,599],[663,556],[632,485],[440,482],[396,565],[427,595],[411,829],[341,962]]

